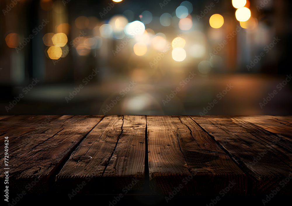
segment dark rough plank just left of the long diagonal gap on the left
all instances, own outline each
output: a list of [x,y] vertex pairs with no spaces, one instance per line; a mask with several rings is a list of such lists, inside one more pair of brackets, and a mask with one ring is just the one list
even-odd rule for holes
[[[41,180],[27,192],[48,191],[52,173],[101,119],[102,116],[74,116],[67,118],[65,122],[61,121],[61,127],[57,129],[53,127],[41,135],[35,134],[32,137],[33,144],[9,156],[10,191],[24,190],[36,176]],[[4,162],[3,158],[1,161]],[[4,181],[3,173],[0,174],[0,179]]]

